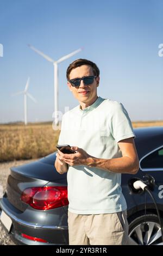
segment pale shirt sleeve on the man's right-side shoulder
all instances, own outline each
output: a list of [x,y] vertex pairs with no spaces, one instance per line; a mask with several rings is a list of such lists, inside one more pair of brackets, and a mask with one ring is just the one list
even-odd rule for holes
[[122,103],[116,102],[111,112],[110,130],[116,142],[122,139],[136,137],[131,120]]

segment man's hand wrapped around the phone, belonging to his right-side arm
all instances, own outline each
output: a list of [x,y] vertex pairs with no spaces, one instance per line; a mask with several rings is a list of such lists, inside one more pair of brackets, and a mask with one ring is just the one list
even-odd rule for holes
[[71,149],[77,151],[77,153],[64,154],[60,150],[58,150],[57,157],[59,158],[59,161],[61,163],[65,162],[70,166],[87,165],[87,160],[90,157],[90,155],[87,154],[86,151],[82,148],[71,147]]

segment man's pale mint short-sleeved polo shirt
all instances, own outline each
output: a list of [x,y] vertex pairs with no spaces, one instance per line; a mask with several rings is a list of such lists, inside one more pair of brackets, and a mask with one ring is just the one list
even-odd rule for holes
[[[117,101],[97,100],[80,105],[62,117],[58,144],[84,149],[101,159],[122,157],[118,141],[135,137],[129,115]],[[121,173],[88,166],[68,166],[68,210],[74,214],[109,214],[127,209],[121,189]]]

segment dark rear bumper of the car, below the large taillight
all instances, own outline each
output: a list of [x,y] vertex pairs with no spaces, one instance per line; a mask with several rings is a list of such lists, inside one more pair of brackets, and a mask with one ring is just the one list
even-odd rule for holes
[[[39,225],[26,222],[21,218],[23,213],[17,212],[17,209],[8,202],[7,198],[0,199],[0,214],[2,211],[12,220],[11,229],[8,233],[18,245],[68,245],[67,226]],[[4,227],[3,223],[2,225]],[[8,231],[6,228],[5,230]],[[22,234],[46,240],[47,243],[26,239],[22,237]]]

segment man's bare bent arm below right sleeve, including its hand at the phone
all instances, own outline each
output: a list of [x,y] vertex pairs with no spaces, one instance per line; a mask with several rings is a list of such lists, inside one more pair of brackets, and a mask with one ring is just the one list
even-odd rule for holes
[[77,151],[74,154],[64,154],[58,150],[58,157],[62,164],[67,163],[70,166],[83,165],[103,169],[108,172],[136,174],[139,170],[139,158],[134,139],[123,139],[118,142],[118,146],[122,151],[122,157],[115,159],[99,159],[87,154],[84,149],[78,147],[71,147],[72,150]]

